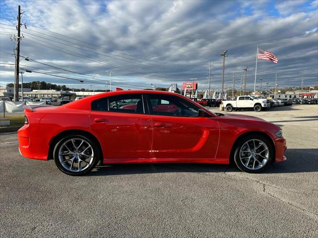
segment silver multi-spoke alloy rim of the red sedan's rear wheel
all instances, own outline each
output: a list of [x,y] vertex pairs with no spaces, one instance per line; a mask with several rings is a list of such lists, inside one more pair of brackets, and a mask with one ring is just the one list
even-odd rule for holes
[[92,146],[84,139],[73,138],[64,142],[59,150],[59,162],[70,172],[87,169],[94,159]]

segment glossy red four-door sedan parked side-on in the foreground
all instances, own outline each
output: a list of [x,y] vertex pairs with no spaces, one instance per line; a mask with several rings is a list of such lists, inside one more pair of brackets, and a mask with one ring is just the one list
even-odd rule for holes
[[258,173],[286,160],[282,130],[265,120],[212,113],[160,91],[114,91],[60,106],[25,106],[22,156],[53,159],[68,175],[99,160],[123,163],[229,164]]

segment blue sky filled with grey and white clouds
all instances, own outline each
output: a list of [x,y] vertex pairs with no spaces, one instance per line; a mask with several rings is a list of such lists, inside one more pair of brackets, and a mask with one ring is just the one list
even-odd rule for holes
[[[168,87],[197,78],[222,85],[222,57],[228,50],[228,87],[236,72],[239,88],[248,66],[247,88],[254,86],[256,47],[271,51],[279,62],[258,60],[257,84],[318,84],[318,0],[101,1],[2,0],[0,2],[0,84],[13,82],[13,47],[17,6],[24,11],[21,67],[24,82],[41,80],[69,87],[105,89]],[[38,62],[36,62],[38,61]],[[40,62],[40,63],[39,63]],[[9,63],[9,64],[4,64]],[[45,65],[45,64],[48,65]],[[51,66],[53,67],[51,67]],[[79,82],[73,79],[83,80]]]

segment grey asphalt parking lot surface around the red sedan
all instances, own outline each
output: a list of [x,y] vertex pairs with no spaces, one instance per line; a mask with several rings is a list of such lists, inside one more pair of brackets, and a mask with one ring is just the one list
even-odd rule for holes
[[0,134],[0,237],[317,238],[318,105],[232,113],[280,125],[287,161],[256,175],[140,164],[71,177],[22,158],[16,133]]

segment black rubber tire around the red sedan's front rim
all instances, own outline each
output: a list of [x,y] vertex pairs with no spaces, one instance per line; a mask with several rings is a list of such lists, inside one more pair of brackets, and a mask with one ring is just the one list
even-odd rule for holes
[[[262,141],[267,146],[268,153],[269,153],[268,154],[269,158],[266,161],[266,163],[264,162],[265,164],[262,167],[260,167],[258,169],[254,169],[254,170],[251,169],[251,168],[250,169],[246,168],[246,166],[243,165],[243,162],[240,159],[240,150],[241,150],[241,148],[245,145],[246,142],[251,143],[250,142],[251,140]],[[253,146],[253,143],[251,143],[251,147],[252,146]],[[257,145],[256,145],[256,147],[257,147]],[[260,148],[260,150],[262,148]],[[244,152],[242,152],[242,153],[244,153]],[[255,155],[255,156],[257,157],[258,155]],[[271,162],[273,160],[273,157],[274,157],[274,150],[273,150],[273,147],[272,147],[270,141],[263,135],[250,134],[250,135],[244,136],[243,138],[240,138],[239,142],[236,144],[235,153],[234,153],[234,162],[237,165],[237,167],[239,168],[239,170],[241,170],[243,172],[251,173],[251,174],[257,174],[257,173],[260,173],[261,171],[265,170],[271,164]],[[261,160],[262,157],[258,156],[257,159]],[[254,159],[251,159],[251,160],[253,160],[253,161],[250,161],[249,163],[252,163],[252,162],[254,163]],[[247,163],[247,164],[250,165],[249,163]]]

